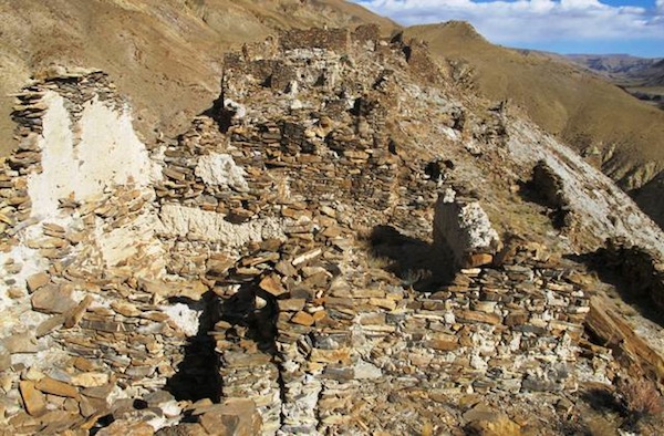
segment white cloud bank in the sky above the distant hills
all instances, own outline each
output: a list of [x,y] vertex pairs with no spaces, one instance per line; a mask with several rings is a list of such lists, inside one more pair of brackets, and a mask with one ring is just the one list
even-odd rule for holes
[[599,0],[364,0],[356,1],[402,24],[467,20],[490,41],[664,41],[664,0],[652,9]]

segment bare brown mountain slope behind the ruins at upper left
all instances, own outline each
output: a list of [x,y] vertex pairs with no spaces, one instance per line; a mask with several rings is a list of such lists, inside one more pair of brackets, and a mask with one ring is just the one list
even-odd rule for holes
[[0,156],[13,145],[13,97],[53,65],[106,71],[146,136],[178,132],[218,94],[224,52],[277,29],[387,19],[341,0],[27,0],[0,2]]

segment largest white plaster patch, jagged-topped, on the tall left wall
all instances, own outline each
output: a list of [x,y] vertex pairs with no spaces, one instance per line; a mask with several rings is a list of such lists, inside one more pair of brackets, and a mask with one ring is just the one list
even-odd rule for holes
[[126,108],[114,110],[95,97],[72,125],[62,96],[49,92],[43,102],[49,106],[39,142],[43,170],[28,181],[33,217],[55,215],[61,198],[85,200],[108,186],[145,187],[159,177]]

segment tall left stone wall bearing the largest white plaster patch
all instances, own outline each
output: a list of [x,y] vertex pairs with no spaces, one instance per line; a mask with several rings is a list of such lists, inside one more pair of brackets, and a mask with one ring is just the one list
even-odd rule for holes
[[158,149],[103,73],[50,77],[18,101],[20,146],[0,168],[2,427],[98,429],[113,414],[108,432],[125,432],[136,398],[160,407],[138,427],[179,421],[159,388],[187,357],[209,287],[166,273]]

